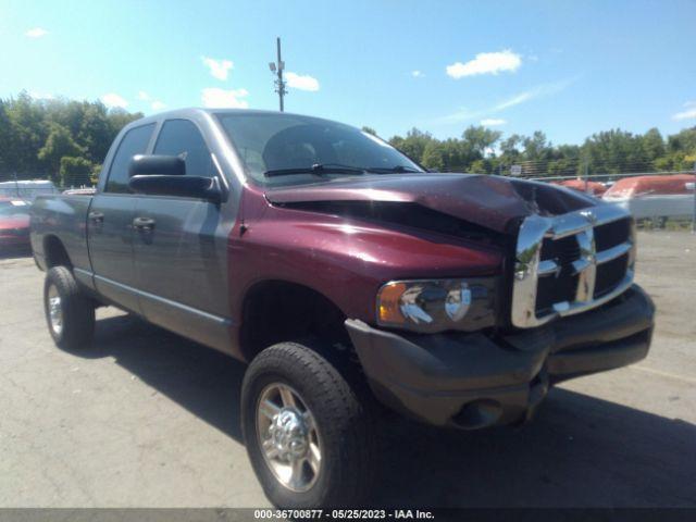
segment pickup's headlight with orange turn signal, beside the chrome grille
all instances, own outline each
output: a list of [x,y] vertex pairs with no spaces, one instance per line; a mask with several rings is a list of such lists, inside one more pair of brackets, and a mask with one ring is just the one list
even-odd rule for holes
[[493,326],[496,281],[391,281],[377,293],[377,324],[423,333]]

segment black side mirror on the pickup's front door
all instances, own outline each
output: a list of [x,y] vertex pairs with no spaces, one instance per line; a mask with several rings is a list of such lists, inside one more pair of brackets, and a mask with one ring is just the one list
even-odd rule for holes
[[216,177],[138,174],[130,178],[128,187],[135,194],[149,196],[207,199],[213,203],[219,203],[222,200],[222,190]]

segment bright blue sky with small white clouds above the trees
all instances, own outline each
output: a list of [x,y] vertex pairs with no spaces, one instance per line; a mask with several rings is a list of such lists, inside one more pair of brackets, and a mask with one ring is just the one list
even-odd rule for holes
[[580,142],[696,125],[696,2],[0,0],[0,97],[286,110],[438,137]]

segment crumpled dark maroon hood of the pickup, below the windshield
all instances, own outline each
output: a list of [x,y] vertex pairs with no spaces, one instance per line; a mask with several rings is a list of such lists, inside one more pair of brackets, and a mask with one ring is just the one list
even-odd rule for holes
[[365,175],[313,185],[272,188],[266,199],[275,204],[310,202],[402,202],[511,233],[531,214],[558,215],[599,204],[582,192],[509,177],[478,174]]

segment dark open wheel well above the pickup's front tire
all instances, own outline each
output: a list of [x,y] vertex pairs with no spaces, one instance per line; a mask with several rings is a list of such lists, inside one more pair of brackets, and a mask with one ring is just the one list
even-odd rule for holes
[[250,361],[264,348],[308,337],[350,347],[345,314],[322,294],[284,281],[258,283],[245,298],[241,352]]

